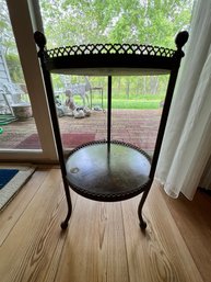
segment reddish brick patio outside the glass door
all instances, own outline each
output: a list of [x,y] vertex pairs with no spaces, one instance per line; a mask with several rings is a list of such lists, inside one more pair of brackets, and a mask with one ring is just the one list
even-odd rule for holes
[[[112,139],[131,143],[149,154],[154,150],[161,110],[113,110]],[[90,117],[77,120],[71,116],[59,119],[62,133],[93,133],[95,139],[105,139],[107,131],[106,112],[93,111]],[[36,133],[34,119],[13,122],[3,126],[0,148],[15,148],[31,134]]]

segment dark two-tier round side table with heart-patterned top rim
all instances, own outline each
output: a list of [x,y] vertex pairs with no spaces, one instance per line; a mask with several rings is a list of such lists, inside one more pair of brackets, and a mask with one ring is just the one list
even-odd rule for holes
[[[176,78],[184,56],[183,46],[188,33],[181,32],[176,37],[176,50],[164,47],[134,44],[97,44],[67,46],[46,49],[45,36],[36,32],[35,42],[39,46],[44,81],[50,109],[54,133],[59,155],[59,162],[68,202],[68,215],[61,227],[68,226],[71,215],[69,185],[79,194],[96,201],[127,200],[139,193],[142,198],[138,207],[141,229],[146,224],[142,217],[142,207],[154,179],[154,172],[165,132],[167,116]],[[107,140],[84,144],[73,150],[67,161],[60,137],[54,90],[50,74],[106,75],[108,76]],[[110,140],[112,129],[112,76],[169,74],[169,81],[164,102],[161,124],[157,133],[155,151],[150,165],[149,156],[129,144]]]

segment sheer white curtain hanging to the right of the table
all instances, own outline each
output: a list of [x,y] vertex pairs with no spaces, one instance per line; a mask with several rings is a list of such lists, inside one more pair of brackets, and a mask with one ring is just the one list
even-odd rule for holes
[[211,1],[194,9],[173,104],[156,169],[166,193],[189,200],[211,156]]

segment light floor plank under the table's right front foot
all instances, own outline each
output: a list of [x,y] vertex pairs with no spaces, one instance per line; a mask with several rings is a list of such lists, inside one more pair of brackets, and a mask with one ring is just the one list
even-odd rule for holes
[[153,187],[144,205],[145,234],[139,229],[138,203],[139,198],[122,203],[130,281],[202,281],[159,189]]

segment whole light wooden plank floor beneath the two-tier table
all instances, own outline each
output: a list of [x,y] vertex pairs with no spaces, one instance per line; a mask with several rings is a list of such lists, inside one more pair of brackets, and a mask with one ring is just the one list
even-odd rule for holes
[[99,203],[71,192],[73,212],[61,232],[67,205],[60,170],[39,168],[0,213],[2,282],[209,282],[211,198],[172,200],[156,183],[140,196]]

